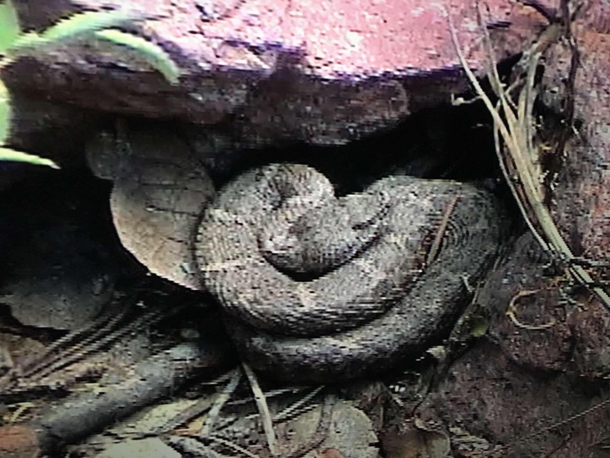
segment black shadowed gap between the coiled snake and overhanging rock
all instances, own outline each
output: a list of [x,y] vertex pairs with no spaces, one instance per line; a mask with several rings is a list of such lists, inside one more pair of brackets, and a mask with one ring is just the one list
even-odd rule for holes
[[423,109],[389,131],[339,147],[284,144],[246,150],[226,170],[212,170],[218,184],[268,162],[312,165],[336,184],[339,194],[358,191],[390,173],[481,180],[500,176],[489,114],[482,104]]

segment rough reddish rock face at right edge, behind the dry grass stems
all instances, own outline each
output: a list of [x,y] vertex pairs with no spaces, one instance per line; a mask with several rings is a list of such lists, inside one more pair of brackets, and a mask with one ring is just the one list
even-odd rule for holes
[[[572,24],[580,54],[574,90],[574,135],[551,189],[552,209],[576,256],[608,260],[610,253],[610,5],[589,2]],[[548,55],[543,83],[561,91],[569,75],[571,50],[557,45]],[[561,93],[561,92],[560,92]],[[603,269],[604,275],[607,275]],[[595,272],[597,275],[597,272]]]

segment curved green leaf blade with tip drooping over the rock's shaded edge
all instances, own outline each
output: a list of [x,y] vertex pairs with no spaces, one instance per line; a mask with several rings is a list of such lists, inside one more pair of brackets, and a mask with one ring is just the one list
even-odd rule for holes
[[160,71],[165,76],[165,79],[171,84],[178,84],[180,70],[176,62],[171,59],[170,55],[165,52],[161,46],[156,43],[149,42],[146,38],[138,37],[137,35],[127,34],[116,29],[107,29],[96,32],[96,35],[112,43],[127,48],[134,49],[138,56],[142,57],[153,68]]

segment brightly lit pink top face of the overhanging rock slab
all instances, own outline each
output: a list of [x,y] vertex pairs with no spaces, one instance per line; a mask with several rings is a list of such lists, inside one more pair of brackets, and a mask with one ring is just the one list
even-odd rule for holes
[[[82,1],[87,7],[107,5]],[[197,5],[215,5],[206,16]],[[489,2],[488,24],[523,24],[514,0]],[[135,0],[130,7],[167,16],[145,31],[170,42],[205,67],[277,70],[295,57],[303,73],[329,79],[421,76],[459,68],[446,14],[453,18],[472,64],[481,60],[475,2],[425,0]],[[202,20],[203,18],[209,18]],[[534,30],[533,30],[534,31]]]

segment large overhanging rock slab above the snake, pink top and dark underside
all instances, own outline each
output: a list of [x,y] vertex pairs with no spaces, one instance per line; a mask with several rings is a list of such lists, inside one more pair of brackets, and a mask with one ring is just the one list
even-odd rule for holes
[[[62,0],[16,0],[24,26],[73,12]],[[86,9],[112,7],[80,0]],[[135,31],[178,62],[171,87],[116,46],[58,46],[5,71],[11,90],[102,111],[229,125],[249,144],[282,139],[343,144],[448,101],[465,79],[451,43],[453,18],[468,61],[483,67],[475,1],[134,0],[158,16]],[[126,4],[121,4],[126,7]],[[41,13],[44,11],[44,13]],[[489,2],[496,58],[520,51],[545,23],[515,0]]]

